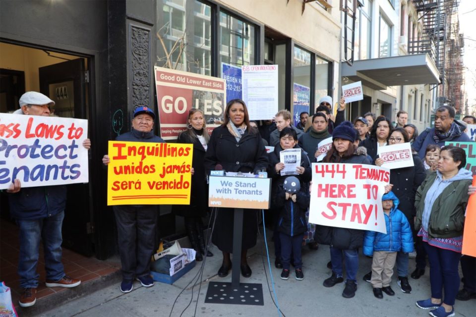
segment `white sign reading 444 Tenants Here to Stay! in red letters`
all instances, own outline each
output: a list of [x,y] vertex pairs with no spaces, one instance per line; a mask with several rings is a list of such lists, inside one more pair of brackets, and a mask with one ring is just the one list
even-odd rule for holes
[[309,222],[386,233],[382,196],[389,180],[385,167],[312,163]]

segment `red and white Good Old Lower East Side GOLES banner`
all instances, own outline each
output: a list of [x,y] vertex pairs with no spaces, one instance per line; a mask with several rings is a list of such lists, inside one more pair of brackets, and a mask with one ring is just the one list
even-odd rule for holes
[[208,132],[223,123],[227,105],[224,79],[157,66],[154,73],[164,140],[177,140],[186,129],[188,112],[194,108],[203,111]]

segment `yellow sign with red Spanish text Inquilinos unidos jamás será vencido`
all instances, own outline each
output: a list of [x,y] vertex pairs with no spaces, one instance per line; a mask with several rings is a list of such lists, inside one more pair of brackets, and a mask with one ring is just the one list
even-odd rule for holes
[[108,206],[188,205],[192,144],[109,141]]

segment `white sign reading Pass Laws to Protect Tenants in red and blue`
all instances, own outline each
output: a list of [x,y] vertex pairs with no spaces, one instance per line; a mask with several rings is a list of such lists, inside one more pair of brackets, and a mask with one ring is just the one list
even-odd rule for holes
[[87,183],[88,121],[0,113],[0,189]]

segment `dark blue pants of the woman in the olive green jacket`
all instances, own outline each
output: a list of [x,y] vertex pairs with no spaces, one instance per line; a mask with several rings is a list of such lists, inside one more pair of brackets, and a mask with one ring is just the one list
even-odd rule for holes
[[431,297],[443,299],[442,290],[444,289],[445,299],[443,303],[453,306],[460,287],[458,265],[461,253],[433,247],[426,242],[423,243],[430,263]]

